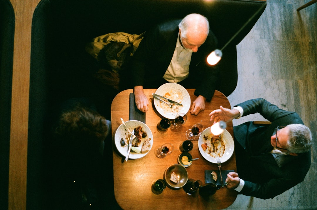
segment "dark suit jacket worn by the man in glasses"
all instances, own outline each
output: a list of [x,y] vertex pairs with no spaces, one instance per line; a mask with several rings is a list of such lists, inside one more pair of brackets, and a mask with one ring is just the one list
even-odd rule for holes
[[298,156],[273,156],[269,153],[273,149],[270,137],[275,128],[279,125],[303,124],[299,115],[279,109],[265,99],[252,99],[236,106],[243,108],[243,116],[260,113],[272,123],[258,126],[247,122],[234,127],[234,137],[242,146],[240,154],[243,155],[242,160],[236,154],[237,172],[245,181],[240,194],[273,198],[303,181],[310,167],[310,151]]

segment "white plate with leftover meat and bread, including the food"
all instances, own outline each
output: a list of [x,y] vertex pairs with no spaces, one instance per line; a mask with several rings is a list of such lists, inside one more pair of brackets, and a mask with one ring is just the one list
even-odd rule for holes
[[[129,159],[138,159],[146,156],[146,154],[152,149],[153,145],[153,135],[149,127],[141,121],[129,120],[126,121],[126,126],[132,132],[134,130],[134,135],[136,139],[133,141],[131,146],[131,152]],[[121,124],[114,135],[114,142],[121,153],[125,156],[128,153],[128,143],[131,134],[126,129],[124,124]]]

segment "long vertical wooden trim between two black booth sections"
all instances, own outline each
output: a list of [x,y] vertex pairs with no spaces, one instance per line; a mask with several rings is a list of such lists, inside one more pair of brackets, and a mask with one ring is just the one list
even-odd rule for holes
[[33,12],[40,0],[10,0],[15,11],[8,209],[26,209],[29,74]]

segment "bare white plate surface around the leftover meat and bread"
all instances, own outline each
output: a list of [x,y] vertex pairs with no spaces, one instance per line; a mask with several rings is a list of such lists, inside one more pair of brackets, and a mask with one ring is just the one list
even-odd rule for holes
[[[147,137],[142,138],[142,141],[141,141],[140,145],[142,146],[143,141],[145,141],[147,138],[151,138],[151,140],[150,140],[150,143],[151,143],[150,150],[151,150],[152,149],[152,145],[153,145],[153,135],[152,135],[152,132],[149,129],[149,127],[147,127],[146,124],[144,124],[144,123],[142,123],[142,122],[140,122],[138,120],[129,120],[129,121],[126,121],[125,123],[126,123],[126,126],[128,126],[128,128],[129,128],[129,130],[131,132],[134,130],[134,128],[137,128],[138,126],[142,127],[142,130],[144,130],[147,133]],[[123,124],[121,124],[118,127],[118,129],[117,129],[117,131],[116,131],[116,133],[114,135],[114,142],[116,144],[116,147],[117,147],[118,151],[121,153],[121,155],[123,155],[125,157],[128,154],[128,145],[121,146],[120,140],[121,140],[121,138],[126,140],[126,138],[128,136],[129,136],[129,132],[126,130],[126,127]],[[148,152],[146,152],[146,153],[136,153],[136,152],[133,152],[131,150],[131,153],[129,155],[129,159],[138,159],[138,158],[144,157],[144,156],[146,156],[146,154]]]

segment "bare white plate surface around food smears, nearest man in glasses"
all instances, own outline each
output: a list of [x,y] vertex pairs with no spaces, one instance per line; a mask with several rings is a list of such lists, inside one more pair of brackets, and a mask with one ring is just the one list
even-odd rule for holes
[[[203,143],[205,143],[206,141],[210,141],[211,137],[213,136],[213,134],[211,133],[210,131],[210,128],[206,128],[202,133],[201,135],[199,136],[199,139],[198,139],[198,148],[199,148],[199,152],[200,154],[206,159],[208,160],[209,162],[212,162],[212,163],[217,163],[217,160],[216,160],[216,156],[218,155],[217,153],[211,153],[209,154],[208,152],[206,152],[207,150],[204,150],[201,145]],[[229,158],[232,156],[233,154],[233,151],[235,149],[235,144],[234,144],[234,141],[233,141],[233,138],[231,136],[231,134],[229,133],[228,130],[223,130],[223,133],[221,134],[222,137],[221,137],[221,141],[223,141],[223,144],[224,144],[224,151],[223,153],[221,153],[220,155],[220,161],[221,162],[226,162],[227,160],[229,160]],[[205,140],[205,137],[208,138],[208,140]]]

